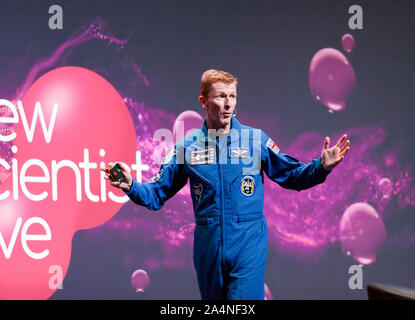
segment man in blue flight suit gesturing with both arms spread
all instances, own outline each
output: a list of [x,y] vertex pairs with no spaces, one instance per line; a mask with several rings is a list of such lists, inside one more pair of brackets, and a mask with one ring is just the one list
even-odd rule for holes
[[196,219],[193,261],[202,299],[263,300],[268,247],[264,172],[283,188],[313,187],[343,160],[350,141],[344,143],[343,135],[329,148],[326,137],[321,156],[301,163],[282,153],[262,130],[236,119],[236,85],[227,72],[206,71],[199,97],[206,111],[202,128],[176,144],[150,181],[138,183],[118,162],[126,181],[110,183],[136,204],[158,210],[189,180]]

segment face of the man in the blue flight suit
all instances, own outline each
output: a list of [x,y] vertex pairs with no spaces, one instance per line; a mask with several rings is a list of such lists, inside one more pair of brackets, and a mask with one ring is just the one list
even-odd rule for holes
[[236,107],[236,85],[215,82],[211,85],[208,96],[200,96],[199,101],[207,113],[209,123],[216,128],[228,126]]

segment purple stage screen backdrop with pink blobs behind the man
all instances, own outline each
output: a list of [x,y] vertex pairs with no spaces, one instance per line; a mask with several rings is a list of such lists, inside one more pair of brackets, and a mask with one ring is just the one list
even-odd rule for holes
[[200,299],[189,185],[150,211],[99,168],[155,176],[206,117],[208,69],[237,77],[236,118],[283,153],[350,140],[321,185],[265,178],[266,298],[414,288],[414,1],[0,6],[1,299]]

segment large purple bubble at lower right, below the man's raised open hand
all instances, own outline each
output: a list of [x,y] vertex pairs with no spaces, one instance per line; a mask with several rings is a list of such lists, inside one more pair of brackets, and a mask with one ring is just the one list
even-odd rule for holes
[[382,218],[364,202],[354,203],[346,209],[339,232],[343,251],[362,264],[376,261],[376,252],[386,236]]

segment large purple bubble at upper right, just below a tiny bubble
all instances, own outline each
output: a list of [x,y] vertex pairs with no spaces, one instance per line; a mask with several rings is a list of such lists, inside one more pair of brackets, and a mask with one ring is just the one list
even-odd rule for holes
[[318,51],[311,59],[308,80],[312,96],[331,112],[346,108],[346,98],[356,85],[353,67],[332,48]]

